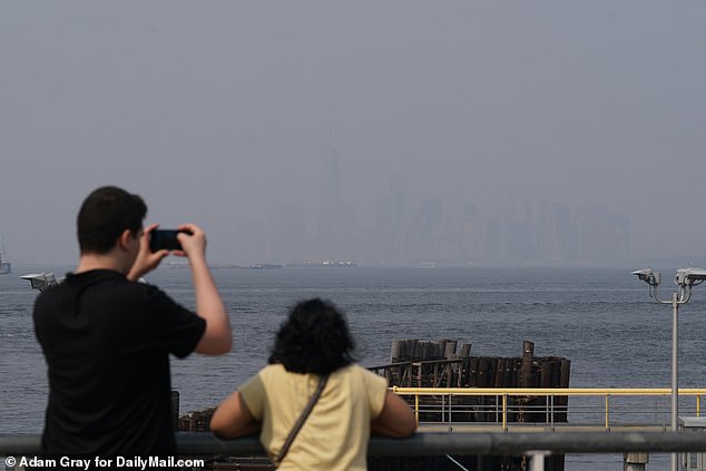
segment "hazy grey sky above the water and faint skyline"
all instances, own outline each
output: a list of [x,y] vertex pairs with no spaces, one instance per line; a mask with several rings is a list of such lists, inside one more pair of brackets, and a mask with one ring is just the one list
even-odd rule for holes
[[706,265],[706,2],[4,1],[0,234],[105,184],[212,263]]

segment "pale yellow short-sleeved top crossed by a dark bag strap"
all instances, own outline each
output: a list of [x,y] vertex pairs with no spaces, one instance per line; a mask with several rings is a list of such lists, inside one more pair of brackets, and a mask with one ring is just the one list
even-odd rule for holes
[[[274,458],[318,384],[315,374],[267,365],[241,389],[253,416],[263,423],[259,441]],[[382,411],[388,383],[350,365],[333,372],[280,470],[365,470],[370,422]]]

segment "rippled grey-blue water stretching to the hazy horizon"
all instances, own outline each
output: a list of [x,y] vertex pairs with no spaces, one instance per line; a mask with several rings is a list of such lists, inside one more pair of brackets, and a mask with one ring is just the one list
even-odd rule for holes
[[[71,267],[13,268],[0,276],[0,433],[40,433],[47,379],[31,321],[37,292],[19,275],[59,275]],[[669,273],[663,276],[666,298],[675,287]],[[219,268],[214,276],[231,315],[234,350],[173,359],[182,413],[216,405],[261,369],[287,310],[314,296],[346,313],[365,366],[388,363],[398,338],[453,338],[471,343],[471,355],[488,356],[521,356],[528,340],[537,356],[571,361],[572,387],[670,386],[671,307],[651,301],[647,285],[629,271],[359,266]],[[148,281],[194,307],[188,269],[164,266]],[[680,387],[706,386],[705,300],[706,287],[697,286],[679,310]],[[569,457],[567,469],[590,469],[595,460]],[[600,460],[601,469],[622,469],[621,457]]]

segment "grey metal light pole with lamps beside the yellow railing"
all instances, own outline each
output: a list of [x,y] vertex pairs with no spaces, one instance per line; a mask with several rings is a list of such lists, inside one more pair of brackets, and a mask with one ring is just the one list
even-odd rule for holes
[[[671,430],[678,430],[679,415],[679,306],[686,304],[692,298],[692,287],[706,281],[706,269],[703,268],[679,268],[674,277],[677,292],[671,293],[671,300],[660,300],[657,295],[659,286],[659,272],[651,268],[644,268],[633,272],[633,275],[649,285],[649,296],[660,304],[671,304]],[[671,470],[678,471],[677,453],[671,453]]]

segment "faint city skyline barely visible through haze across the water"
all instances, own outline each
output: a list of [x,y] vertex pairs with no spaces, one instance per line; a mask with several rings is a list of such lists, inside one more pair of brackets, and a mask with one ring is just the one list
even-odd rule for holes
[[360,220],[360,212],[339,195],[324,194],[321,200],[318,208],[301,202],[277,206],[261,237],[253,238],[259,245],[246,251],[252,262],[615,266],[631,261],[629,216],[607,204],[527,200],[522,208],[499,213],[414,195],[399,178],[398,189],[376,202],[375,216],[367,220]]

